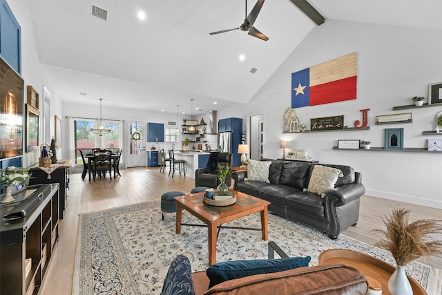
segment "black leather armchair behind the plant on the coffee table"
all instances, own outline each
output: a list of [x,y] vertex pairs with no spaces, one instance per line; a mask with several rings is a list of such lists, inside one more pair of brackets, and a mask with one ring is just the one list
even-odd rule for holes
[[[206,168],[195,170],[195,187],[218,187],[220,184],[220,180],[218,180],[218,175],[216,174],[218,164],[222,166],[230,166],[231,158],[231,153],[210,153]],[[225,183],[230,187],[231,173],[227,175]]]

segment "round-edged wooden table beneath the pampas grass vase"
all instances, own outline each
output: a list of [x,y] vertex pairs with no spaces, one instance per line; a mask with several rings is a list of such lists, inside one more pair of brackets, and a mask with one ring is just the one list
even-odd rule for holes
[[[364,276],[371,276],[382,285],[382,294],[390,295],[388,280],[396,267],[376,257],[347,249],[329,249],[323,251],[318,258],[318,265],[347,265],[358,269]],[[427,295],[419,283],[408,276],[414,295]]]

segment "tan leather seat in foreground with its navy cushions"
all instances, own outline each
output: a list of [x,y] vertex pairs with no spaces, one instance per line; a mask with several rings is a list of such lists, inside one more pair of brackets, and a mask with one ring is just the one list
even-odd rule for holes
[[367,292],[367,278],[353,267],[309,267],[309,256],[287,258],[284,254],[284,257],[215,263],[206,271],[191,274],[189,259],[178,255],[164,279],[161,294],[273,295],[277,292],[281,295],[365,295]]

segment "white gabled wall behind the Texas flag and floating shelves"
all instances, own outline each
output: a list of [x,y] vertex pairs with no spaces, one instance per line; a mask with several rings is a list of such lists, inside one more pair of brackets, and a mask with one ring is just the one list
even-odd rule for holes
[[[411,97],[427,97],[428,84],[442,81],[441,36],[441,30],[327,20],[307,35],[262,86],[245,113],[229,109],[219,117],[263,113],[265,158],[280,158],[279,142],[287,140],[290,149],[307,149],[314,160],[353,166],[363,173],[367,195],[442,209],[441,153],[332,150],[337,140],[349,139],[383,146],[385,128],[403,127],[405,147],[423,148],[428,138],[441,137],[422,135],[422,131],[435,130],[435,116],[442,105],[392,111],[393,106],[412,104]],[[346,124],[353,126],[361,120],[359,110],[370,108],[370,130],[282,134],[282,113],[291,104],[291,73],[353,52],[358,53],[357,99],[296,108],[296,113],[307,126],[311,117],[332,115],[345,115]],[[376,115],[409,112],[412,124],[374,125]]]

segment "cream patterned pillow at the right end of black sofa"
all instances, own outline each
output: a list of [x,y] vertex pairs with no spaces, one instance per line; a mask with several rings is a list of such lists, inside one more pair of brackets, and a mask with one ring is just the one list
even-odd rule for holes
[[339,169],[315,165],[311,171],[309,187],[307,191],[322,195],[329,189],[334,189],[334,184],[339,176],[343,176],[343,172]]

